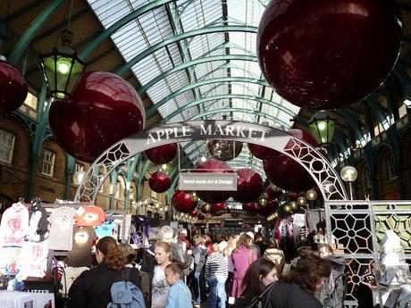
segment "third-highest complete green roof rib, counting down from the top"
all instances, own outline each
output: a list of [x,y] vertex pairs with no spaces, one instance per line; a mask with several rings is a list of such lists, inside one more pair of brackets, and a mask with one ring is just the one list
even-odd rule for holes
[[158,103],[154,104],[151,106],[147,112],[146,112],[146,119],[151,118],[155,112],[157,112],[158,107],[164,105],[167,103],[169,100],[176,96],[180,96],[180,94],[187,92],[194,87],[202,87],[214,83],[222,83],[222,82],[247,82],[247,83],[254,83],[260,86],[265,86],[269,87],[268,82],[263,80],[263,79],[253,79],[253,78],[244,78],[244,77],[224,77],[224,78],[215,78],[215,79],[207,79],[207,80],[202,80],[202,81],[197,81],[196,83],[190,84],[186,87],[181,87],[177,91],[172,92],[170,95],[165,96],[162,100],[160,100]]

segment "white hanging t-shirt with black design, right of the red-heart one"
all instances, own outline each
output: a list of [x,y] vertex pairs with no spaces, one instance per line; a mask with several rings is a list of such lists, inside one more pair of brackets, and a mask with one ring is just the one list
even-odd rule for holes
[[43,206],[29,207],[29,231],[26,240],[30,242],[42,242],[48,230],[47,213]]

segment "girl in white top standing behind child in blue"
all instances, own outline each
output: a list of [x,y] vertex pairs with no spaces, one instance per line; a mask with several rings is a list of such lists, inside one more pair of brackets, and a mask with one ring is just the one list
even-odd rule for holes
[[172,246],[166,242],[155,245],[155,265],[153,285],[151,290],[151,307],[165,308],[170,286],[165,280],[165,267],[172,262]]

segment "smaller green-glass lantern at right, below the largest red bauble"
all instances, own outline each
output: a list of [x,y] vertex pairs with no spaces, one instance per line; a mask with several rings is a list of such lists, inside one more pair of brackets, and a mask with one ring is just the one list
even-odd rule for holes
[[308,121],[308,129],[315,137],[319,146],[331,145],[334,136],[335,120],[323,111],[315,112],[315,115]]

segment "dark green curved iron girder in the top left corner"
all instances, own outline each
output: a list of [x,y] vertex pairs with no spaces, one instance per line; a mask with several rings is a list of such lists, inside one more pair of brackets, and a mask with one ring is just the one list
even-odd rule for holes
[[16,65],[17,62],[19,62],[21,54],[23,54],[27,49],[31,40],[38,32],[38,29],[41,29],[43,24],[50,18],[52,14],[55,13],[55,10],[57,10],[59,6],[63,4],[63,2],[64,0],[54,0],[49,6],[46,7],[44,11],[38,14],[36,19],[29,25],[29,29],[27,29],[20,37],[12,53],[9,54],[8,62],[12,63],[13,65]]

